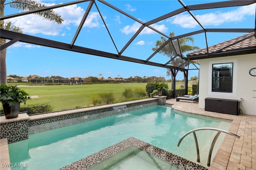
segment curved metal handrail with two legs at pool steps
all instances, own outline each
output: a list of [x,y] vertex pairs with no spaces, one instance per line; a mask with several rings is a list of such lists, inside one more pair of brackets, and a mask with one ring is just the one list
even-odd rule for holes
[[214,147],[214,144],[217,140],[217,138],[220,136],[220,133],[221,132],[224,132],[226,134],[230,134],[236,138],[240,138],[240,136],[232,133],[232,132],[228,132],[226,130],[222,130],[222,129],[218,129],[218,128],[196,128],[194,130],[190,130],[189,132],[187,132],[186,134],[184,134],[182,136],[182,138],[180,138],[179,142],[178,142],[178,147],[180,146],[180,143],[182,142],[182,140],[190,133],[193,132],[193,135],[194,135],[194,139],[195,139],[195,142],[196,142],[196,153],[197,153],[197,162],[200,162],[200,155],[199,155],[199,147],[198,147],[198,141],[197,141],[197,138],[196,138],[196,131],[198,130],[215,130],[215,131],[218,131],[216,133],[216,135],[214,136],[213,140],[212,140],[212,144],[211,144],[211,147],[210,147],[210,150],[209,150],[209,154],[208,154],[208,162],[207,162],[207,166],[210,166],[210,162],[211,162],[211,157],[212,157],[212,150],[213,150],[213,147]]

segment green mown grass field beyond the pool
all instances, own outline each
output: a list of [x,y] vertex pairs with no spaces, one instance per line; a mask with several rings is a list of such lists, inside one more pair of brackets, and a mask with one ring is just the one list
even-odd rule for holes
[[[16,84],[12,83],[12,85]],[[171,84],[168,83],[168,85],[170,89]],[[176,86],[177,89],[180,88],[180,84],[177,84]],[[54,111],[60,111],[74,109],[76,107],[91,106],[92,96],[102,92],[113,92],[115,100],[124,99],[122,92],[128,87],[132,89],[146,89],[146,83],[21,86],[20,89],[25,90],[30,96],[38,96],[38,98],[28,100],[26,102],[27,105],[35,103],[50,103],[50,105],[54,106]]]

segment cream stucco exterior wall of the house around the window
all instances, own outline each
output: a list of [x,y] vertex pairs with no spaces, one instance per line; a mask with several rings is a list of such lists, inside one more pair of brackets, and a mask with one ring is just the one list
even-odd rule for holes
[[[233,63],[233,92],[212,92],[212,64]],[[242,101],[245,114],[256,115],[256,77],[249,70],[256,67],[256,54],[246,54],[212,59],[200,59],[199,107],[204,108],[205,98],[235,99]],[[240,109],[242,109],[240,105]]]

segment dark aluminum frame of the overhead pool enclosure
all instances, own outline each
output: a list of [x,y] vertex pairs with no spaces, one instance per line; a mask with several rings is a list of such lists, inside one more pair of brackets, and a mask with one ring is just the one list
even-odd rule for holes
[[[209,28],[207,28],[206,29],[200,23],[200,20],[198,20],[198,18],[196,18],[196,16],[194,14],[192,14],[193,10],[205,10],[205,9],[213,9],[213,8],[247,6],[247,5],[250,5],[250,4],[255,4],[256,0],[229,0],[229,1],[213,2],[213,3],[206,3],[206,4],[189,5],[189,6],[186,6],[184,4],[184,2],[182,2],[182,0],[178,0],[178,2],[181,4],[182,8],[171,11],[168,14],[164,14],[164,15],[162,15],[158,18],[154,18],[153,20],[150,20],[148,22],[142,22],[142,21],[138,20],[137,18],[131,16],[130,14],[127,14],[126,12],[120,10],[119,8],[111,5],[110,3],[108,3],[104,0],[76,0],[76,1],[67,2],[67,3],[64,3],[64,4],[58,4],[58,5],[49,6],[49,7],[46,7],[46,8],[40,8],[40,9],[37,9],[37,10],[31,10],[31,11],[26,11],[26,12],[20,12],[20,13],[17,13],[17,14],[2,16],[2,17],[0,17],[0,20],[14,18],[14,17],[18,17],[18,16],[24,16],[24,15],[33,14],[33,13],[36,13],[36,12],[42,12],[42,11],[46,11],[46,10],[52,10],[52,9],[55,9],[55,8],[60,8],[60,7],[69,6],[69,5],[73,5],[73,4],[79,4],[79,3],[83,3],[83,2],[89,2],[89,4],[88,4],[88,7],[86,9],[86,12],[84,13],[84,16],[83,16],[81,22],[80,22],[80,25],[77,28],[77,31],[74,34],[72,42],[70,42],[70,44],[57,42],[57,41],[53,41],[53,40],[48,40],[48,39],[44,39],[44,38],[39,38],[39,37],[36,37],[36,36],[30,36],[30,35],[27,35],[27,34],[20,34],[20,33],[11,32],[11,31],[1,29],[0,30],[0,38],[10,40],[10,42],[8,42],[4,45],[1,45],[0,50],[5,49],[6,47],[12,45],[13,43],[19,41],[19,42],[42,45],[42,46],[46,46],[46,47],[52,47],[52,48],[63,49],[63,50],[68,50],[68,51],[74,51],[74,52],[78,52],[78,53],[84,53],[84,54],[95,55],[95,56],[100,56],[100,57],[107,57],[107,58],[111,58],[111,59],[130,61],[130,62],[134,62],[134,63],[141,63],[141,64],[152,65],[152,66],[157,66],[157,67],[164,67],[164,68],[170,69],[172,74],[175,77],[178,71],[182,71],[182,72],[184,72],[184,74],[187,75],[189,69],[186,69],[184,67],[184,65],[186,63],[188,63],[188,65],[189,65],[189,63],[194,64],[194,61],[192,61],[192,60],[196,59],[196,57],[185,57],[181,52],[180,43],[178,43],[178,45],[174,45],[174,42],[179,42],[180,38],[185,38],[187,36],[192,36],[192,35],[204,33],[205,34],[206,48],[207,48],[207,51],[208,51],[208,40],[207,40],[207,36],[206,36],[207,32],[239,32],[239,33],[254,32],[254,37],[256,37],[256,17],[255,17],[254,28],[240,28],[240,29],[238,29],[238,28],[236,28],[236,29],[232,29],[232,28],[209,29]],[[96,49],[90,49],[90,48],[74,45],[74,43],[76,42],[76,38],[79,36],[80,30],[81,30],[81,28],[82,28],[82,26],[83,26],[83,24],[84,24],[84,22],[85,22],[85,20],[86,20],[86,18],[87,18],[87,16],[88,16],[88,14],[89,14],[93,5],[96,6],[96,8],[97,8],[97,10],[98,10],[98,12],[101,16],[100,10],[98,9],[98,6],[96,4],[98,2],[108,6],[110,8],[113,8],[114,10],[116,10],[116,11],[124,14],[125,16],[131,18],[132,20],[135,20],[136,22],[142,24],[142,26],[137,30],[137,32],[132,36],[132,38],[130,38],[130,40],[124,45],[124,47],[120,51],[118,51],[118,49],[116,48],[116,51],[117,51],[116,53],[108,53],[108,52],[105,52],[105,51],[99,51],[99,50],[96,50]],[[189,32],[189,33],[174,36],[174,37],[169,37],[169,36],[165,35],[164,33],[160,32],[160,31],[158,31],[155,28],[152,28],[150,26],[151,24],[155,24],[156,22],[160,22],[160,21],[162,21],[166,18],[170,18],[170,17],[175,16],[177,14],[180,14],[182,12],[188,12],[190,14],[190,16],[192,16],[192,18],[194,18],[194,20],[199,24],[199,26],[201,27],[201,30],[197,30],[197,31],[194,31],[194,32]],[[101,18],[102,18],[102,21],[104,22],[102,16],[101,16]],[[108,31],[108,27],[105,24],[105,22],[104,22],[104,25],[105,25],[105,27]],[[154,51],[152,53],[152,55],[150,55],[146,60],[138,59],[138,58],[135,58],[135,57],[132,57],[132,56],[122,55],[122,53],[126,50],[126,48],[132,43],[132,41],[140,34],[140,32],[145,27],[147,27],[151,30],[154,30],[155,32],[157,32],[157,33],[161,34],[162,36],[166,37],[167,41],[161,47],[159,47],[159,49]],[[109,31],[108,31],[108,34],[112,39],[112,36],[111,36]],[[113,42],[114,46],[116,47],[113,39],[112,39],[112,42]],[[183,62],[181,62],[178,67],[174,67],[174,66],[171,65],[172,61],[174,61],[173,59],[170,59],[169,61],[166,61],[165,64],[150,61],[150,59],[152,59],[152,57],[154,57],[154,55],[156,55],[156,53],[158,53],[168,43],[172,43],[172,45],[174,47],[174,50],[177,54],[175,57],[181,57],[183,59]],[[256,49],[252,49],[252,52],[255,52],[255,50]],[[239,50],[238,51],[232,51],[232,53],[230,53],[230,55],[237,55],[236,52],[239,53],[241,51],[239,51]],[[202,56],[202,58],[219,57],[221,55],[222,54],[219,54],[218,52],[214,53],[214,55],[212,55],[210,53],[207,53],[206,55]],[[226,53],[224,55],[227,56],[229,54]]]

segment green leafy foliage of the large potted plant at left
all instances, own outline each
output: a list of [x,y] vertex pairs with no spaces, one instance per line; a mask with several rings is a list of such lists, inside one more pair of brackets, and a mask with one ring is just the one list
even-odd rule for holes
[[8,103],[9,106],[12,106],[15,105],[16,102],[24,103],[26,105],[26,101],[30,99],[28,93],[17,86],[8,86],[2,83],[0,92],[0,102],[2,102],[3,105]]

